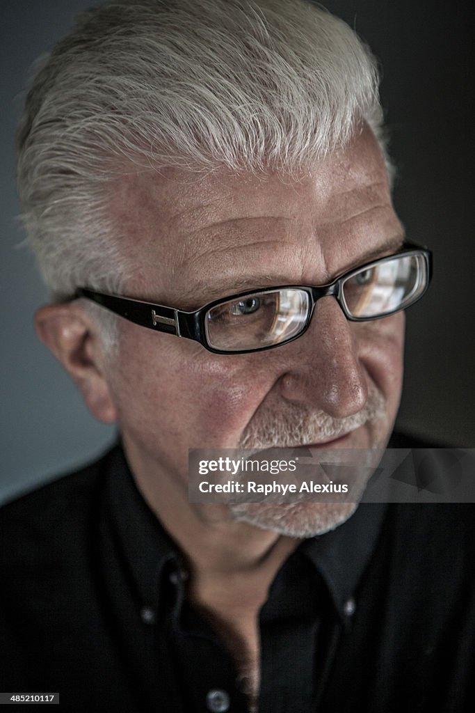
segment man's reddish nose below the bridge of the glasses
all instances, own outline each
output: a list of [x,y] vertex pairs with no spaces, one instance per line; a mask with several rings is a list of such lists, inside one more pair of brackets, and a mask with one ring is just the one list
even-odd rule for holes
[[280,379],[282,395],[334,418],[360,411],[368,385],[354,331],[334,297],[320,299],[307,332],[288,345],[292,364]]

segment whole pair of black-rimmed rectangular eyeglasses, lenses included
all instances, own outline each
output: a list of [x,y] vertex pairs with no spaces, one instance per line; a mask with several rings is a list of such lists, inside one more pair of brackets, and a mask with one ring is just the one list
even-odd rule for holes
[[367,322],[407,309],[424,294],[432,253],[404,243],[395,255],[373,260],[319,287],[283,285],[216,299],[195,312],[80,287],[86,297],[134,324],[194,339],[214,354],[273,349],[306,332],[316,302],[332,295],[350,322]]

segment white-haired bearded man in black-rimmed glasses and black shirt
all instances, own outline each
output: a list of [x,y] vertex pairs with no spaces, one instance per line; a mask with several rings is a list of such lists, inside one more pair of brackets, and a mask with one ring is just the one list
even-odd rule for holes
[[4,689],[473,709],[471,511],[187,494],[189,448],[387,445],[430,277],[388,170],[369,51],[300,0],[118,0],[58,44],[19,130],[36,326],[120,445],[4,509]]

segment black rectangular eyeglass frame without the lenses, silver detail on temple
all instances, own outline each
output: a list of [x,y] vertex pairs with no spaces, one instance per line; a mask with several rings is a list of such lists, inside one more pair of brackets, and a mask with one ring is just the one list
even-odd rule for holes
[[[384,314],[377,314],[374,317],[354,317],[348,311],[348,307],[345,304],[345,299],[343,297],[343,282],[348,278],[356,275],[358,272],[367,270],[375,265],[381,265],[384,262],[389,262],[395,257],[401,255],[422,255],[426,264],[427,270],[427,282],[422,290],[422,292],[414,299],[414,302],[410,302],[402,307],[397,307],[390,312],[385,312]],[[236,292],[236,294],[231,294],[229,297],[221,297],[220,299],[214,299],[213,302],[208,302],[204,304],[203,307],[194,310],[194,312],[185,312],[182,309],[175,309],[174,307],[167,307],[164,304],[155,304],[154,302],[143,302],[140,299],[132,299],[130,297],[120,297],[117,294],[106,294],[105,292],[96,292],[88,287],[78,287],[75,292],[74,299],[80,299],[85,297],[90,299],[97,304],[100,304],[105,309],[109,309],[111,312],[118,314],[124,319],[128,319],[129,322],[133,324],[138,324],[140,327],[147,327],[147,329],[154,329],[156,332],[166,332],[167,334],[174,334],[176,337],[185,337],[186,339],[193,339],[195,342],[199,342],[205,349],[213,354],[250,354],[252,352],[264,352],[267,349],[275,349],[276,347],[281,347],[283,344],[289,344],[295,339],[302,337],[308,329],[308,325],[313,317],[313,311],[315,309],[315,304],[322,297],[335,297],[336,301],[340,305],[340,308],[345,314],[346,319],[350,322],[372,322],[375,319],[383,319],[384,317],[390,317],[396,312],[401,312],[407,307],[412,307],[412,304],[421,299],[432,279],[432,252],[427,249],[427,247],[422,247],[415,245],[412,242],[404,242],[401,249],[392,255],[387,255],[385,257],[380,257],[377,260],[372,260],[371,262],[365,263],[365,265],[360,265],[358,267],[353,267],[348,272],[343,272],[332,282],[328,284],[313,286],[313,285],[302,285],[302,284],[283,284],[277,287],[262,287],[261,289],[248,289],[245,292]],[[282,342],[277,342],[276,344],[267,344],[265,347],[257,347],[253,349],[216,349],[209,344],[207,339],[207,329],[206,329],[206,315],[210,309],[216,307],[218,304],[223,302],[229,302],[234,300],[242,299],[243,297],[251,297],[255,294],[264,294],[266,292],[275,292],[278,289],[301,289],[308,294],[310,299],[310,308],[308,309],[308,317],[306,322],[303,324],[300,332],[294,334],[288,339],[284,339]]]

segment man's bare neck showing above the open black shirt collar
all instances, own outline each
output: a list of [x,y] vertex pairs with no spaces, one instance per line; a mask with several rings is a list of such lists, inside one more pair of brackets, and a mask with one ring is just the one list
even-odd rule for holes
[[133,447],[126,447],[126,453],[142,496],[187,560],[187,598],[234,657],[254,710],[260,675],[259,610],[300,540],[236,522],[221,503],[189,503],[184,479],[148,466]]

